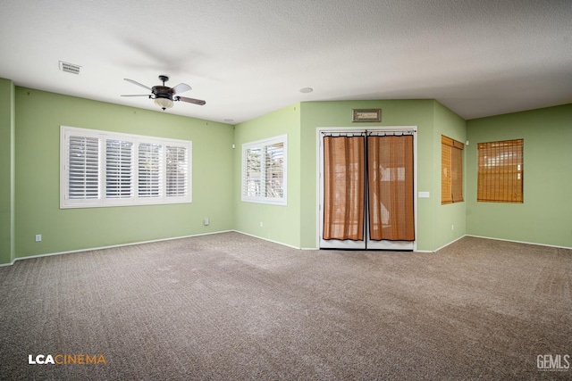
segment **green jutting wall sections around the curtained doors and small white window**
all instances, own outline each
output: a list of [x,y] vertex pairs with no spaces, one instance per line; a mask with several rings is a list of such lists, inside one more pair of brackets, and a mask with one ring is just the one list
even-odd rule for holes
[[[381,108],[382,122],[353,123],[352,109],[357,108]],[[317,247],[316,128],[367,126],[417,127],[418,190],[431,195],[418,199],[417,249],[433,251],[463,236],[464,203],[442,207],[441,181],[434,178],[441,173],[441,133],[464,141],[465,120],[433,100],[308,102],[240,123],[235,130],[235,228],[296,247]],[[241,145],[282,134],[289,135],[288,206],[241,202]],[[456,226],[454,231],[451,224]],[[436,226],[441,225],[448,226],[448,231],[438,232]]]

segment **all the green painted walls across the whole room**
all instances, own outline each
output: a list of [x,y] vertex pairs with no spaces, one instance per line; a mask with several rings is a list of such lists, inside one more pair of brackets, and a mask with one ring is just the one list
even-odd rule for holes
[[[308,102],[233,128],[14,87],[6,79],[0,101],[0,264],[230,229],[315,248],[316,128],[324,127],[417,127],[417,190],[430,193],[417,199],[417,250],[433,251],[465,234],[572,247],[572,104],[465,121],[434,100]],[[355,108],[381,108],[382,122],[351,122]],[[61,125],[191,140],[193,203],[60,210]],[[288,135],[288,205],[241,202],[241,145],[282,134]],[[442,135],[469,140],[464,203],[441,204]],[[476,144],[521,137],[525,203],[476,203]],[[203,219],[210,219],[208,227]]]

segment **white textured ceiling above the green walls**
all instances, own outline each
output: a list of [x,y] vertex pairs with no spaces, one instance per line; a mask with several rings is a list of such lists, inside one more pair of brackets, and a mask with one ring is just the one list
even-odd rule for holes
[[351,99],[473,119],[572,103],[572,0],[3,0],[0,54],[17,86],[158,112],[123,79],[166,74],[206,100],[166,112],[232,124]]

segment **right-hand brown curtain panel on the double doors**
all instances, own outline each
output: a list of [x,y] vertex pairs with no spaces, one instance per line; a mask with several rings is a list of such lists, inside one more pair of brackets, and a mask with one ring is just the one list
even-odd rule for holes
[[369,235],[414,241],[413,136],[367,137]]

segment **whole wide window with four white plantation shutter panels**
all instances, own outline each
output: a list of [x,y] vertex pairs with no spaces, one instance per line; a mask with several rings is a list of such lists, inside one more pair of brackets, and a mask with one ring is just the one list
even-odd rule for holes
[[191,202],[186,140],[61,128],[60,207]]

